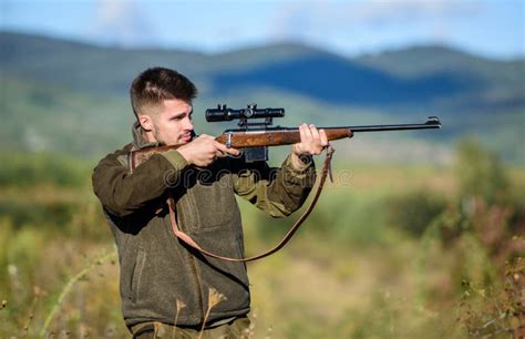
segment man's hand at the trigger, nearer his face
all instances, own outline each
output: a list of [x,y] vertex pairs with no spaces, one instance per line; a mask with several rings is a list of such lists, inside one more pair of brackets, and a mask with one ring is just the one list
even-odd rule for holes
[[210,135],[199,135],[194,141],[177,148],[178,153],[191,164],[198,167],[206,167],[217,157],[224,157],[227,154],[239,155],[240,151],[228,148],[226,145],[215,141]]

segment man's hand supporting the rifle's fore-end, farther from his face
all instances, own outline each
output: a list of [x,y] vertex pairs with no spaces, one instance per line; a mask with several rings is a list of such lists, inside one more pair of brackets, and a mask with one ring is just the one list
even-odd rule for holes
[[315,125],[302,124],[299,126],[301,142],[291,147],[291,164],[296,170],[303,170],[305,163],[301,155],[318,155],[328,146],[325,130],[317,130]]

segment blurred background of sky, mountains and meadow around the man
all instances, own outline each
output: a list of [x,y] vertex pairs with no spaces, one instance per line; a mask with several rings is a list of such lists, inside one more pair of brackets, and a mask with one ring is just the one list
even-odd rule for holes
[[[161,65],[198,86],[197,133],[233,126],[205,122],[217,103],[285,107],[284,126],[443,123],[333,143],[319,207],[248,265],[250,336],[525,333],[524,17],[521,0],[3,0],[0,332],[126,336],[91,172],[131,141],[132,79]],[[248,254],[294,219],[239,204]]]

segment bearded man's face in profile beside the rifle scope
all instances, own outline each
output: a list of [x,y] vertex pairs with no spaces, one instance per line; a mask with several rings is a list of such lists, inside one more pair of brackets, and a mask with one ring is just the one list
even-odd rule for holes
[[193,132],[192,112],[192,105],[183,100],[164,100],[161,111],[152,116],[156,141],[166,145],[188,143]]

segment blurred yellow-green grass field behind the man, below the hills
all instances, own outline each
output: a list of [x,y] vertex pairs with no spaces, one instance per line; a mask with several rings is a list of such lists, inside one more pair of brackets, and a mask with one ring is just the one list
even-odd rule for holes
[[[523,289],[523,268],[501,264],[495,248],[523,239],[483,237],[491,225],[517,227],[512,224],[517,222],[497,214],[496,205],[466,217],[456,208],[453,168],[337,163],[336,177],[346,168],[351,170],[349,183],[326,187],[285,249],[249,264],[250,336],[465,338],[503,330],[498,336],[506,338],[519,326],[523,314],[508,296]],[[508,173],[512,186],[522,189],[523,168]],[[126,337],[119,267],[112,260],[97,265],[114,245],[91,188],[55,182],[30,187],[0,187],[0,332]],[[419,235],[389,218],[392,202],[411,192],[446,202],[447,209]],[[271,246],[294,222],[267,218],[239,203],[248,255]],[[220,287],[216,290],[220,295]],[[512,307],[518,316],[506,316]]]

